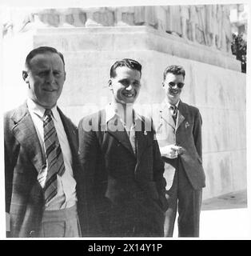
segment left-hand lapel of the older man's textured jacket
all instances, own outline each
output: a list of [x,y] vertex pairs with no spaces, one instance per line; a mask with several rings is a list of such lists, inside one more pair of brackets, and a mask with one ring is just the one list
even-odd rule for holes
[[14,112],[11,119],[14,121],[14,127],[12,129],[14,137],[26,150],[28,158],[39,172],[46,163],[46,159],[42,154],[38,134],[26,102]]

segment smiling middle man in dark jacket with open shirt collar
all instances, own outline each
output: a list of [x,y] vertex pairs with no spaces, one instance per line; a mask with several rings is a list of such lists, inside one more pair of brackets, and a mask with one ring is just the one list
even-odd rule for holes
[[164,164],[151,122],[133,110],[140,80],[140,63],[115,62],[112,103],[78,126],[90,236],[164,235]]

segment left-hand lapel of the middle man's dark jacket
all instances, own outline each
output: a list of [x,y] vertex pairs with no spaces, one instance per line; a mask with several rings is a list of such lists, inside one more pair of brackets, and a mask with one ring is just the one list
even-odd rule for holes
[[126,130],[124,126],[122,125],[122,122],[119,120],[119,118],[115,115],[114,118],[111,118],[107,122],[107,132],[116,138],[118,142],[122,144],[127,150],[133,154],[135,157],[135,154],[133,152],[133,148],[131,146],[131,143],[129,142],[128,135],[126,133]]

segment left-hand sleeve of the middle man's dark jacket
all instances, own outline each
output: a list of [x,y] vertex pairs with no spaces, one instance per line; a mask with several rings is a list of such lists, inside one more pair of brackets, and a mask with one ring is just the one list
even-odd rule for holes
[[95,172],[98,160],[98,140],[94,130],[86,130],[88,118],[78,125],[79,158],[83,172],[84,211],[83,236],[97,236],[102,230],[95,206]]

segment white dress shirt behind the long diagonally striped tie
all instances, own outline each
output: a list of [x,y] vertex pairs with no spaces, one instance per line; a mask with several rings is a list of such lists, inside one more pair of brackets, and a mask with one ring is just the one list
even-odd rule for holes
[[[42,152],[45,156],[43,118],[46,109],[33,102],[30,98],[27,99],[27,106],[38,134],[39,142],[42,147]],[[57,106],[54,106],[51,111],[53,115],[52,118],[54,121],[54,126],[58,134],[58,141],[62,149],[62,155],[66,171],[62,176],[57,175],[58,193],[54,198],[50,200],[50,202],[46,203],[45,210],[60,210],[74,206],[74,204],[77,202],[76,181],[74,179],[72,169],[72,155],[70,145],[66,136],[64,126],[62,124],[62,120],[58,113]],[[48,166],[47,163],[46,166]],[[42,169],[38,174],[39,182],[42,187],[45,186],[46,174],[47,167]]]

